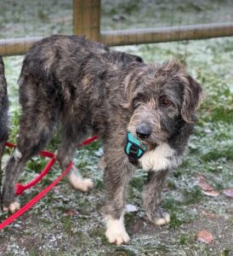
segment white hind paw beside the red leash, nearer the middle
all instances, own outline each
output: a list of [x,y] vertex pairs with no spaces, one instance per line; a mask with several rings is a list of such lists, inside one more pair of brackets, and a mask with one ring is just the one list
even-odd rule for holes
[[73,170],[71,170],[67,178],[74,189],[81,190],[83,192],[88,192],[90,189],[93,189],[94,184],[90,178],[83,178],[81,174],[77,174]]

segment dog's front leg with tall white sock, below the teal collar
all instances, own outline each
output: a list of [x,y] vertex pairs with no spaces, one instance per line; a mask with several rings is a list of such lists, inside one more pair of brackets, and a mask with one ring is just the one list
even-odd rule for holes
[[106,203],[104,207],[106,218],[105,236],[108,241],[120,245],[129,241],[129,236],[124,226],[125,193],[132,170],[127,161],[122,163],[122,158],[112,160],[105,158],[105,193]]

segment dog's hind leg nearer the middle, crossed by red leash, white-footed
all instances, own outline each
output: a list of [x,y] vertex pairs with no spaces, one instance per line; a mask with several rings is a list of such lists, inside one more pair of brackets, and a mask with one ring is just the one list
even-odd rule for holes
[[[69,119],[63,123],[61,131],[61,144],[57,154],[57,160],[60,162],[61,168],[65,169],[77,153],[77,143],[80,143],[85,136],[85,128],[80,128],[81,125],[77,119]],[[93,188],[93,182],[90,178],[82,177],[82,174],[77,171],[75,166],[67,174],[67,179],[73,189],[87,192]]]

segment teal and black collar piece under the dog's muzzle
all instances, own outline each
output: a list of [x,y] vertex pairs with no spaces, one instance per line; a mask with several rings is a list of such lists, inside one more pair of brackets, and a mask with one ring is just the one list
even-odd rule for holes
[[147,146],[142,145],[140,141],[128,131],[125,154],[128,155],[128,159],[131,163],[137,163],[137,160],[143,156],[147,148]]

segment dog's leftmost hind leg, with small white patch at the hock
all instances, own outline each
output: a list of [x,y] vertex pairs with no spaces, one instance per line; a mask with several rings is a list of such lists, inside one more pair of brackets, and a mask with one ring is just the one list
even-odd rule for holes
[[38,113],[38,109],[36,115],[33,113],[35,113],[33,109],[23,113],[20,119],[19,143],[5,169],[2,196],[4,211],[15,212],[20,207],[15,200],[15,184],[20,177],[20,172],[26,165],[26,161],[38,154],[54,133],[54,117],[51,119],[48,114]]

